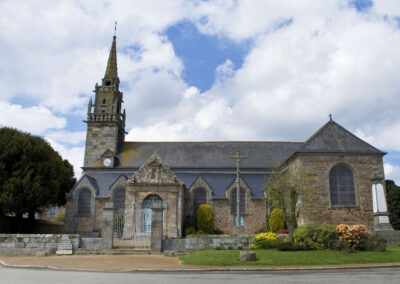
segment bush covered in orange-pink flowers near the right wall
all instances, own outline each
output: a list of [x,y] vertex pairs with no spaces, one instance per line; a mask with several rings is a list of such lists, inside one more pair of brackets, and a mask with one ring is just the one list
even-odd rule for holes
[[364,225],[339,225],[336,227],[342,246],[354,250],[367,249],[366,244],[373,236]]

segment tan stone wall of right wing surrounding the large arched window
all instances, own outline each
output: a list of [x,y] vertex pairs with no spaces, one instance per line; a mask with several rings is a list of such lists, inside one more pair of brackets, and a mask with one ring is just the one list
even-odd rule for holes
[[[353,172],[356,195],[355,206],[332,206],[330,201],[329,172],[337,164],[346,165]],[[300,154],[289,162],[289,172],[304,168],[315,176],[315,192],[301,223],[364,224],[373,226],[372,183],[373,168],[383,173],[378,155]]]

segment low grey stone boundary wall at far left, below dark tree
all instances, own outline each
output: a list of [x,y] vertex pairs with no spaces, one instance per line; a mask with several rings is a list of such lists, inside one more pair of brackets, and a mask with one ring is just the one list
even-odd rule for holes
[[[68,236],[73,249],[79,247],[78,235]],[[0,234],[0,255],[34,256],[55,254],[62,234]]]

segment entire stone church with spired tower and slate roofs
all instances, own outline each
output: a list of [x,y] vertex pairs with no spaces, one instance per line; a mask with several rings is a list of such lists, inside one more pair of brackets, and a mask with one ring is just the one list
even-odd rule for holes
[[[332,119],[305,142],[125,141],[127,114],[119,84],[114,36],[104,78],[88,106],[83,175],[67,195],[68,233],[102,235],[104,208],[110,205],[117,237],[149,233],[152,210],[158,207],[163,209],[163,238],[179,238],[185,217],[195,215],[201,204],[212,207],[216,229],[232,234],[240,227],[255,233],[266,226],[268,176],[296,168],[315,177],[314,211],[304,223],[372,228],[375,217],[386,211],[385,153]],[[239,191],[231,158],[236,152],[247,157],[240,165]],[[386,216],[378,217],[387,222]]]

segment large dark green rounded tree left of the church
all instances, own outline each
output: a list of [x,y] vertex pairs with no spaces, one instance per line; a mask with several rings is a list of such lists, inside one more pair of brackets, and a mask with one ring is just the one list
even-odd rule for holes
[[75,184],[73,167],[37,136],[0,128],[0,215],[13,213],[21,221],[49,205],[64,205]]

